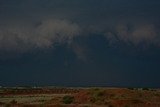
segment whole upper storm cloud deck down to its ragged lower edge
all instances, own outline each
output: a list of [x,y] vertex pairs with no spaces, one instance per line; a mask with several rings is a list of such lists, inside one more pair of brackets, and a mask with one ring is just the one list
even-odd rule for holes
[[[83,33],[103,35],[105,32],[109,41],[116,38],[116,41],[135,45],[142,42],[159,45],[159,32],[155,25],[159,20],[159,4],[155,0],[2,0],[0,36],[3,42],[0,48],[50,47],[58,38],[64,41],[78,35],[80,27]],[[8,20],[14,23],[10,24]],[[38,23],[42,21],[42,25],[34,28],[37,20],[40,21]],[[26,27],[21,22],[32,26]]]

